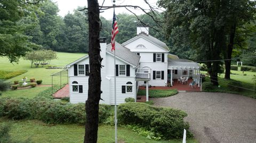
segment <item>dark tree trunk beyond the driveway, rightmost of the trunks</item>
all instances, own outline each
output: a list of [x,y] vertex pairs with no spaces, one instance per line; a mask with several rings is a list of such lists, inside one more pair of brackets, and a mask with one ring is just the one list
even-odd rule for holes
[[[236,23],[230,28],[229,44],[227,47],[226,59],[230,59],[234,47],[234,38],[236,32]],[[225,79],[230,79],[231,60],[225,60]]]

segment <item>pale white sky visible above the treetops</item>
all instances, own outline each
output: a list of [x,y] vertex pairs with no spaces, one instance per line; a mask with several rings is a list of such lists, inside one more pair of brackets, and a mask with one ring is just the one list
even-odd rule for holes
[[[56,2],[60,12],[58,13],[60,16],[64,17],[68,12],[73,13],[74,9],[77,9],[78,6],[86,6],[87,7],[87,1],[86,0],[52,0],[53,2]],[[99,5],[102,5],[103,0],[98,0]],[[149,4],[156,6],[157,0],[148,0]],[[105,0],[105,3],[103,6],[111,6],[113,5],[112,0]],[[138,5],[142,7],[143,9],[149,9],[147,4],[143,0],[116,0],[116,5]],[[134,10],[130,9],[132,12],[134,12],[137,15],[143,14],[141,10]],[[127,11],[124,7],[122,8],[115,8],[115,13],[130,13]],[[113,18],[113,9],[105,10],[104,12],[100,13],[101,16],[104,18],[111,20]]]

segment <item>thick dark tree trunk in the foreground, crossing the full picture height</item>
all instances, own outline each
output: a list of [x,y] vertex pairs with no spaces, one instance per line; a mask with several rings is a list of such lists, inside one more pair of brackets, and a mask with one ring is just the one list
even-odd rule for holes
[[86,100],[86,123],[84,142],[94,143],[98,138],[99,101],[101,94],[101,56],[100,56],[100,12],[98,0],[88,0],[89,15],[89,60],[90,76],[88,98]]

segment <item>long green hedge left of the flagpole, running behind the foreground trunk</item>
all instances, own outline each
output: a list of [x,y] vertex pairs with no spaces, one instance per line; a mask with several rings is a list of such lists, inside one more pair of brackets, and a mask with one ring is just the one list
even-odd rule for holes
[[[99,123],[110,115],[110,105],[100,105]],[[45,123],[85,123],[85,105],[69,104],[47,98],[0,98],[0,116],[9,119],[37,119]]]

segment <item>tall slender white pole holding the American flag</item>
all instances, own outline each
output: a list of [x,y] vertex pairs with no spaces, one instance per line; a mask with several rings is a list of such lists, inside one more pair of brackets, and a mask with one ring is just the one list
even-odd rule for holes
[[[113,6],[115,6],[115,0],[113,1]],[[114,7],[115,14],[115,7]],[[115,41],[116,43],[116,41]],[[115,44],[114,43],[114,44]],[[116,45],[116,44],[115,44]],[[114,49],[114,67],[115,67],[115,78],[114,78],[114,86],[115,86],[115,143],[117,143],[117,107],[116,107],[116,48]]]

